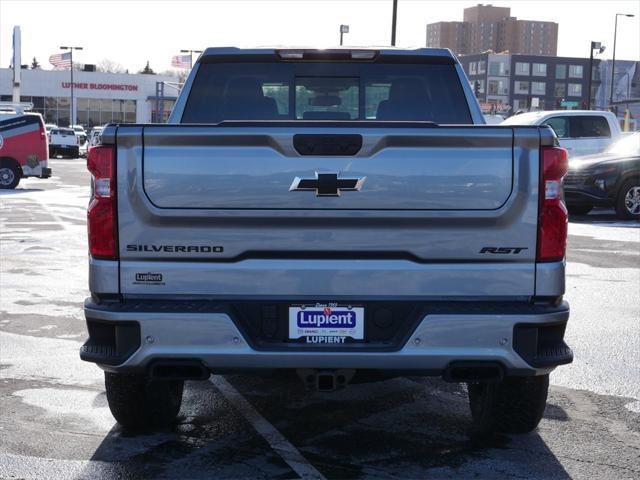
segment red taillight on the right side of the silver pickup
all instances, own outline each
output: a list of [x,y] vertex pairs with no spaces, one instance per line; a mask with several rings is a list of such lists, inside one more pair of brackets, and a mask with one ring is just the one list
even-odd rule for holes
[[569,167],[567,151],[542,147],[540,154],[540,213],[538,218],[538,262],[557,262],[567,249],[569,216],[564,204],[562,177]]

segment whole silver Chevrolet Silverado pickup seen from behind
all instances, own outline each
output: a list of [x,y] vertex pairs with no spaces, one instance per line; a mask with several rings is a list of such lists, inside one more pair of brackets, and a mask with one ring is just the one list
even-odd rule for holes
[[211,48],[168,124],[105,128],[81,358],[118,422],[286,370],[441,376],[479,431],[533,430],[572,361],[567,157],[549,127],[483,123],[448,50]]

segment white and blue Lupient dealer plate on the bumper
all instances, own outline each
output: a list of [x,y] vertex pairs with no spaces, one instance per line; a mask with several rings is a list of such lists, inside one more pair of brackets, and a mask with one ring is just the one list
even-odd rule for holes
[[289,307],[289,339],[327,344],[364,340],[364,307],[292,305]]

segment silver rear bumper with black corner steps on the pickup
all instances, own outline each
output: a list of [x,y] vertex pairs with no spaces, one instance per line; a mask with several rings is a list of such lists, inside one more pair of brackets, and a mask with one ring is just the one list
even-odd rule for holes
[[121,372],[154,361],[196,360],[213,372],[269,369],[374,369],[443,374],[452,362],[497,362],[506,375],[539,375],[570,363],[569,318],[559,306],[453,302],[421,316],[398,348],[259,348],[233,313],[213,302],[85,302],[90,338],[83,360]]

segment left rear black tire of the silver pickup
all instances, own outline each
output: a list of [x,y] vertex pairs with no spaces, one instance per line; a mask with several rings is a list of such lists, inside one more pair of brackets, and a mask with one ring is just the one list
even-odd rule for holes
[[151,381],[144,375],[104,373],[111,414],[126,430],[149,430],[175,422],[184,382]]

